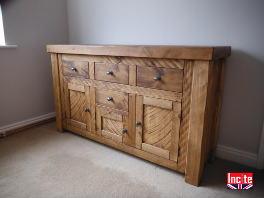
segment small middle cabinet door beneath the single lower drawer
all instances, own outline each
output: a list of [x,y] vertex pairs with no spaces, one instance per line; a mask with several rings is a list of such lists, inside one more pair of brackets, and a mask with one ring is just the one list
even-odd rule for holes
[[125,143],[128,131],[128,116],[96,108],[96,134],[119,143]]

